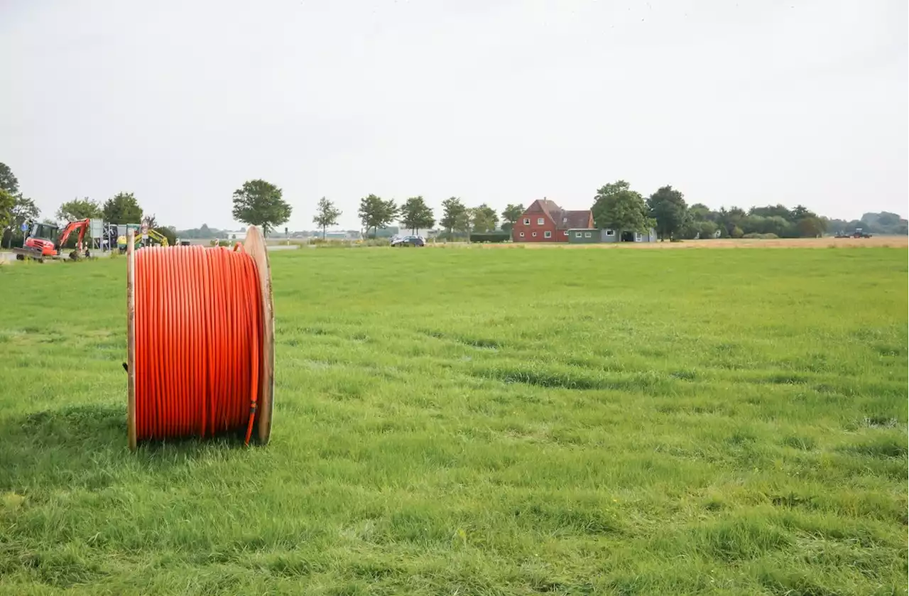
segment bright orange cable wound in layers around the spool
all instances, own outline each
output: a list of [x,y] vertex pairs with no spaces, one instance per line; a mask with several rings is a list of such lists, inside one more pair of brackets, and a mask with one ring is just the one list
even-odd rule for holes
[[253,432],[262,295],[237,244],[135,252],[136,439]]

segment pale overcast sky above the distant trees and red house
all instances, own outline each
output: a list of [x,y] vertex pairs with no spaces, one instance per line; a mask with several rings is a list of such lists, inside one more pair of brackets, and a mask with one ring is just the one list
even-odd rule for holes
[[0,161],[51,215],[360,197],[909,215],[907,0],[0,0]]

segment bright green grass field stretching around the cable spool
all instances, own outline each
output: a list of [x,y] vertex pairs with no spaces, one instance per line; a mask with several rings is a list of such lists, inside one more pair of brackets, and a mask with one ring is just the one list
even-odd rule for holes
[[909,250],[271,258],[271,445],[135,454],[125,260],[0,267],[0,593],[909,593]]

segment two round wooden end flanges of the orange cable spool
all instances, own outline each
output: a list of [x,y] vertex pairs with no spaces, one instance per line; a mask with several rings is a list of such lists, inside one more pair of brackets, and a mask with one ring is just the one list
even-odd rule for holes
[[[258,227],[246,230],[243,247],[255,261],[259,274],[259,291],[262,292],[261,379],[259,399],[255,413],[253,437],[260,445],[267,445],[272,434],[272,411],[275,398],[275,304],[272,298],[272,276],[268,264],[265,237]],[[174,247],[179,250],[180,247]],[[136,448],[135,435],[135,231],[126,233],[126,338],[128,399],[126,402],[126,432],[129,449]]]

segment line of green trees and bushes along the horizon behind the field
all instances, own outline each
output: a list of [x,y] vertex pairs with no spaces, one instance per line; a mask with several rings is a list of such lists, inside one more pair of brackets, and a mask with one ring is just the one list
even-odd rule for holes
[[[248,180],[234,192],[233,216],[237,221],[261,227],[267,235],[286,223],[292,207],[284,200],[283,191],[262,179]],[[657,189],[649,197],[633,190],[625,180],[617,180],[600,187],[591,207],[594,225],[604,229],[644,232],[654,229],[662,240],[708,237],[818,237],[825,232],[854,232],[863,228],[874,234],[909,234],[909,221],[895,213],[865,213],[860,220],[845,221],[818,216],[804,206],[792,209],[784,205],[740,207],[713,210],[703,203],[689,206],[681,191],[671,186]],[[510,233],[514,224],[524,214],[521,204],[509,204],[501,212],[483,203],[468,207],[460,197],[442,201],[442,212],[436,220],[432,207],[422,196],[410,197],[401,205],[395,199],[367,195],[360,199],[357,216],[367,235],[390,235],[390,226],[400,224],[401,229],[416,233],[431,229],[436,224],[443,230],[442,237],[467,237],[501,229]],[[334,201],[322,197],[316,206],[313,222],[325,237],[328,227],[336,226],[342,212]],[[0,163],[0,228],[6,246],[22,241],[19,231],[24,222],[40,216],[35,202],[19,192],[19,183],[12,170]],[[88,197],[75,198],[63,203],[55,213],[58,221],[74,221],[98,217],[114,224],[145,222],[149,227],[174,241],[180,238],[227,237],[226,230],[202,227],[176,230],[159,225],[154,215],[143,212],[133,193],[121,192],[103,204]],[[395,228],[397,230],[398,228]],[[370,232],[372,230],[372,232]],[[396,233],[396,231],[395,231]]]

